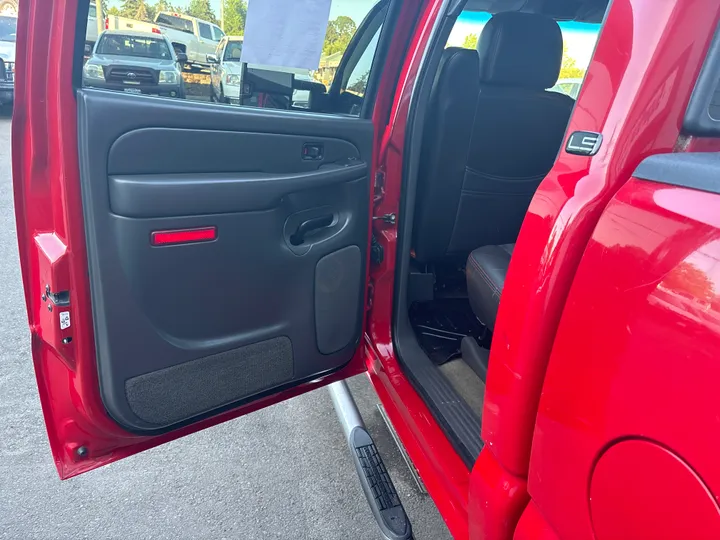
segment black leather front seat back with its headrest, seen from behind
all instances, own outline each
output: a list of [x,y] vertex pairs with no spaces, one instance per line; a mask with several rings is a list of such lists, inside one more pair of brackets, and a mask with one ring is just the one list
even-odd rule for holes
[[420,262],[464,260],[513,243],[552,167],[574,100],[549,92],[563,41],[545,16],[493,16],[477,52],[446,49],[430,94],[413,248]]

